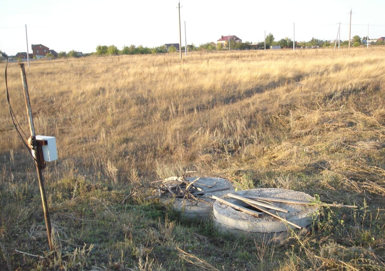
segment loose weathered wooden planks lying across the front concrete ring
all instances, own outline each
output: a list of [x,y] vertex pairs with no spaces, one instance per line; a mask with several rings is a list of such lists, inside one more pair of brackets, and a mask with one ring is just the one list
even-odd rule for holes
[[[268,198],[268,197],[254,197],[254,196],[247,196],[247,195],[242,196],[239,194],[231,194],[231,193],[227,194],[227,195],[228,195],[228,197],[241,200],[241,201],[247,203],[248,205],[250,205],[251,207],[254,207],[254,208],[260,210],[261,212],[256,212],[256,211],[250,210],[246,207],[243,207],[243,206],[240,206],[237,204],[233,204],[227,200],[221,199],[221,198],[216,197],[216,196],[211,196],[211,198],[218,200],[219,202],[221,202],[223,204],[229,205],[230,207],[233,207],[236,210],[245,212],[245,213],[250,214],[250,215],[254,215],[255,217],[259,217],[263,213],[271,215],[271,216],[273,216],[277,219],[280,219],[281,221],[283,221],[287,224],[290,224],[290,225],[292,225],[298,229],[301,229],[301,226],[298,226],[297,224],[294,224],[293,222],[286,220],[285,218],[281,217],[278,214],[278,212],[288,213],[289,210],[286,210],[286,209],[283,209],[280,207],[276,207],[272,202],[281,202],[281,203],[286,203],[286,204],[299,204],[299,205],[319,205],[319,206],[328,206],[328,207],[357,208],[356,205],[328,204],[328,203],[323,203],[323,202],[320,202],[320,203],[305,202],[305,201],[300,201],[300,200],[277,199],[277,198]],[[273,213],[273,211],[270,211],[268,209],[275,210],[275,213]]]

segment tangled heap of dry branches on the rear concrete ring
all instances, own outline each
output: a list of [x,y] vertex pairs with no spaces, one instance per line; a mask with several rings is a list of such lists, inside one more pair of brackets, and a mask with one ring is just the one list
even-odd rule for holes
[[147,197],[145,198],[145,200],[155,199],[159,197],[175,197],[179,199],[201,200],[201,198],[204,197],[204,194],[206,193],[229,189],[211,189],[212,187],[214,187],[214,185],[216,185],[216,183],[213,183],[212,185],[199,183],[198,181],[200,178],[201,177],[198,177],[193,181],[189,181],[185,177],[174,176],[152,182],[159,183],[159,188],[154,190],[154,192],[156,192],[156,195],[152,197]]

